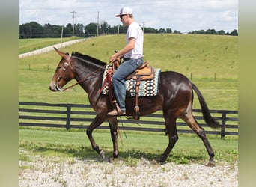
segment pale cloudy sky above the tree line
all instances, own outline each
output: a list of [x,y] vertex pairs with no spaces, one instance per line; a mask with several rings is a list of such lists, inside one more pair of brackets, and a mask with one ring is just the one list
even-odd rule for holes
[[238,30],[238,0],[19,0],[19,25],[31,21],[41,25],[66,26],[73,21],[88,25],[97,22],[99,15],[99,22],[114,26],[121,24],[115,17],[121,7],[131,7],[135,22],[144,27],[184,33]]

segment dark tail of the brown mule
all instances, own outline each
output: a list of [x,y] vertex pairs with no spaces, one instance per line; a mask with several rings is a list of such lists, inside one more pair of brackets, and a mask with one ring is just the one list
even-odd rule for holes
[[210,127],[214,128],[214,129],[220,128],[221,126],[219,125],[219,122],[210,115],[209,108],[207,106],[207,103],[204,100],[204,96],[201,94],[201,92],[198,90],[196,85],[194,85],[193,83],[192,83],[192,89],[195,91],[195,93],[198,96],[198,99],[199,99],[199,102],[200,102],[200,105],[201,105],[201,111],[203,113],[203,117],[204,117],[205,122]]

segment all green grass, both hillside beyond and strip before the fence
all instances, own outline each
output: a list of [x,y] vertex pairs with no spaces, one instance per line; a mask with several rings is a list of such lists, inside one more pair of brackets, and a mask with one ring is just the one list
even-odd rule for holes
[[[124,46],[124,34],[95,37],[61,49],[64,52],[77,51],[102,61],[108,61],[115,49]],[[47,39],[45,39],[47,40]],[[59,39],[56,39],[59,40]],[[186,34],[145,34],[144,59],[162,71],[174,70],[192,78],[198,85],[210,109],[238,109],[238,37],[216,35]],[[37,49],[48,43],[42,40],[19,40],[20,48]],[[48,45],[48,44],[47,44]],[[33,47],[31,47],[33,46]],[[79,103],[88,104],[85,91],[79,86],[61,93],[49,91],[60,56],[56,52],[19,59],[19,101]],[[73,84],[74,81],[68,85]],[[194,108],[199,108],[195,96]],[[112,154],[112,141],[108,131],[94,132],[97,144],[108,155]],[[122,135],[124,146],[120,145],[121,156],[126,160],[139,159],[141,156],[153,159],[167,146],[168,138],[157,133],[129,133]],[[210,136],[210,144],[216,152],[216,162],[237,162],[237,137],[221,140]],[[153,146],[152,146],[153,145]],[[95,158],[96,152],[85,132],[53,129],[19,129],[19,148],[28,154],[46,156],[76,156]],[[19,159],[26,159],[20,153]],[[204,144],[195,135],[181,135],[168,162],[188,163],[206,162],[209,159]]]

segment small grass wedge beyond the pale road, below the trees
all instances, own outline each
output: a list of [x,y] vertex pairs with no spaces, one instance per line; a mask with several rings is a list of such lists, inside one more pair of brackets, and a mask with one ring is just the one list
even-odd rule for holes
[[[64,37],[62,42],[76,40],[80,37]],[[46,46],[61,43],[61,38],[33,38],[33,39],[19,39],[19,54],[31,52]]]

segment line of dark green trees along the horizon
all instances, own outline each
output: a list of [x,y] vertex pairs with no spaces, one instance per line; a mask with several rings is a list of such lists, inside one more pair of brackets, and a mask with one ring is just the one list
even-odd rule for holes
[[[73,33],[74,27],[74,33]],[[182,34],[180,31],[174,30],[171,28],[150,28],[142,27],[144,33],[173,33],[173,34]],[[23,38],[43,38],[43,37],[93,37],[97,35],[104,34],[122,34],[126,33],[127,26],[115,25],[110,26],[107,22],[103,21],[100,24],[91,22],[88,25],[82,25],[80,23],[72,25],[68,23],[64,25],[51,25],[49,23],[40,25],[37,22],[28,22],[22,25],[19,25],[19,39]],[[233,31],[215,31],[215,29],[198,30],[191,31],[188,34],[219,34],[219,35],[231,35],[238,36],[238,31],[234,29]]]

